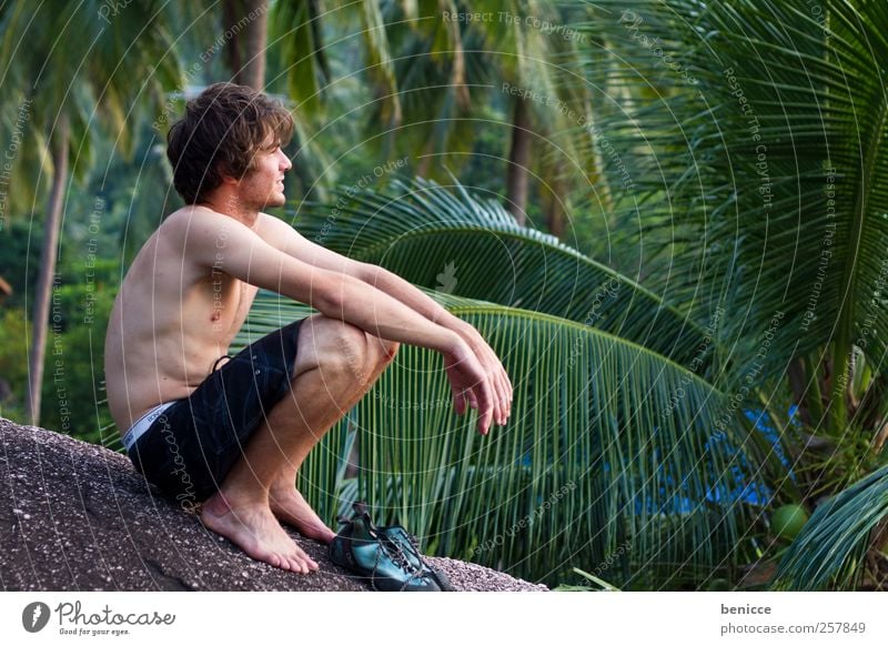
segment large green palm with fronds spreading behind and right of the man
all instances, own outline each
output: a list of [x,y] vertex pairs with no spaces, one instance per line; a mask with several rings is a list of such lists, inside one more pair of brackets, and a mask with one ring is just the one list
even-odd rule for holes
[[[584,564],[606,562],[628,541],[625,569],[608,573],[648,587],[700,585],[719,569],[739,582],[750,555],[764,545],[773,556],[779,546],[766,505],[800,502],[817,511],[778,585],[862,581],[872,558],[861,555],[885,542],[886,481],[874,470],[884,463],[888,420],[888,272],[879,261],[888,204],[878,181],[888,159],[880,145],[888,102],[876,61],[888,53],[879,36],[888,9],[839,0],[823,9],[815,16],[770,0],[606,1],[574,26],[588,37],[573,70],[593,89],[594,143],[613,203],[639,222],[627,242],[653,249],[642,256],[643,285],[618,284],[630,302],[646,294],[659,303],[626,315],[634,332],[625,336],[623,325],[608,327],[617,319],[596,312],[595,330],[581,326],[596,341],[572,341],[582,361],[566,351],[563,334],[571,333],[559,325],[574,330],[567,305],[601,290],[605,274],[595,272],[603,270],[581,262],[583,271],[565,279],[564,265],[553,263],[562,269],[547,273],[553,258],[565,256],[536,239],[511,246],[502,212],[466,193],[417,184],[354,200],[337,221],[340,239],[325,240],[428,287],[441,286],[438,274],[453,284],[445,268],[455,268],[458,293],[487,302],[437,296],[477,322],[501,352],[513,350],[521,361],[509,369],[527,384],[516,402],[527,417],[503,441],[508,448],[453,446],[444,430],[458,422],[444,411],[395,415],[381,407],[434,402],[443,392],[426,374],[434,357],[405,353],[376,401],[362,403],[352,420],[372,445],[362,464],[373,466],[359,491],[397,505],[402,519],[446,553],[522,574],[542,545],[555,563]],[[601,154],[604,145],[612,153]],[[596,152],[589,148],[587,157]],[[630,182],[620,182],[625,176]],[[321,231],[327,214],[301,213],[301,228]],[[514,260],[514,273],[497,250]],[[549,275],[561,280],[546,282]],[[546,286],[528,290],[541,280]],[[521,312],[501,310],[515,305]],[[283,305],[264,307],[260,322]],[[555,321],[544,319],[552,314]],[[657,345],[670,331],[675,340]],[[623,343],[645,360],[619,365]],[[637,392],[645,396],[635,400]],[[393,424],[406,443],[391,438]],[[763,440],[763,426],[775,430],[777,445]],[[584,461],[598,467],[597,480],[577,471]],[[321,471],[335,473],[332,464]],[[567,482],[582,483],[583,496],[571,498],[581,508],[565,505],[553,525],[525,534],[521,521]],[[737,482],[758,488],[738,494]],[[410,507],[412,501],[422,503]],[[497,501],[493,508],[490,501]],[[571,531],[577,526],[586,528],[582,538]],[[492,538],[503,545],[485,546]],[[810,549],[833,555],[816,573],[805,565]]]

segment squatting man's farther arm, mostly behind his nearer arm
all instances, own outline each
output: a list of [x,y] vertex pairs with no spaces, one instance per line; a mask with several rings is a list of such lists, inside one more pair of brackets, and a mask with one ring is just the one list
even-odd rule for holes
[[[447,312],[401,276],[381,266],[347,259],[315,244],[278,218],[263,214],[260,235],[272,246],[302,262],[364,281],[432,323],[458,334],[475,353],[485,372],[492,375],[496,391],[494,420],[501,425],[506,423],[512,412],[512,382],[500,359],[475,327]],[[471,392],[468,396],[472,406],[477,407],[477,402],[472,398]],[[462,412],[460,402],[456,403],[456,406],[457,411]]]

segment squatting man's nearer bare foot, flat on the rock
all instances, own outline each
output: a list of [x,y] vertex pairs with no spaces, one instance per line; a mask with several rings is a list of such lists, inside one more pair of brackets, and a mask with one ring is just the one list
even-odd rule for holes
[[201,522],[251,558],[303,574],[317,569],[317,564],[293,543],[264,504],[233,503],[216,492],[203,504]]

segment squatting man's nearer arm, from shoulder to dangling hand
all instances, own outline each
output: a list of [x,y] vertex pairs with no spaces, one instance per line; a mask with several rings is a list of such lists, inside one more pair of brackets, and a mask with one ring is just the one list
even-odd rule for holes
[[[457,396],[470,396],[478,408],[478,430],[494,420],[495,385],[465,341],[389,294],[346,273],[307,264],[270,245],[254,231],[224,215],[194,210],[183,236],[186,258],[208,269],[272,290],[311,305],[331,319],[371,334],[444,355],[447,378]],[[460,410],[457,403],[457,413]]]

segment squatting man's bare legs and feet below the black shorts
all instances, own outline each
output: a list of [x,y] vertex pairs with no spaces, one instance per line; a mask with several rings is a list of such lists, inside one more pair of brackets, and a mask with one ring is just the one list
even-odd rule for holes
[[[282,470],[299,468],[324,433],[366,393],[372,381],[362,378],[362,371],[355,366],[365,366],[363,374],[375,377],[384,370],[373,362],[381,362],[385,353],[376,352],[367,341],[363,331],[342,321],[320,315],[305,320],[300,329],[292,392],[272,408],[220,491],[204,503],[201,519],[210,529],[251,557],[274,566],[295,572],[317,568],[278,523],[270,492],[275,486],[275,507],[281,515],[305,533],[329,539],[323,523],[295,487],[290,496],[276,485]],[[379,340],[375,345],[380,345]]]

